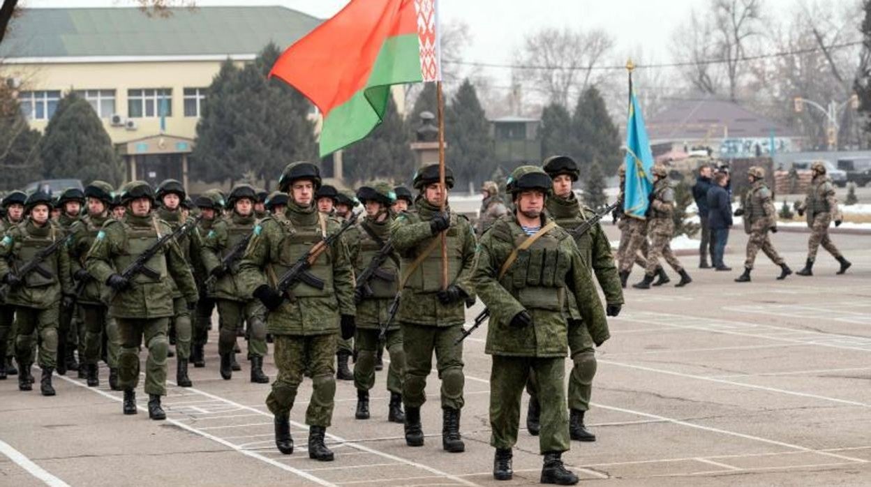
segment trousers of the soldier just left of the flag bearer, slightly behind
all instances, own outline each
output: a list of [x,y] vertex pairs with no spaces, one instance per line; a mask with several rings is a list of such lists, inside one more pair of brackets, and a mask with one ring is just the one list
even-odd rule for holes
[[[354,363],[354,387],[369,390],[375,387],[375,358],[378,355],[380,330],[357,328],[354,343],[357,344],[357,362]],[[405,350],[402,349],[402,331],[387,332],[387,351],[390,366],[387,372],[387,389],[402,394],[402,378],[405,375]]]

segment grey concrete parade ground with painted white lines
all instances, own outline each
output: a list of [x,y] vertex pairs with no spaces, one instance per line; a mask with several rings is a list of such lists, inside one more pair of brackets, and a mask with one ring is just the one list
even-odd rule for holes
[[[606,231],[618,239],[614,227]],[[804,263],[807,236],[773,235],[793,271]],[[669,270],[672,284],[626,290],[623,312],[609,321],[611,340],[597,351],[586,422],[598,441],[572,442],[564,454],[581,484],[871,484],[871,236],[833,235],[854,264],[846,275],[835,275],[837,263],[820,249],[814,277],[775,281],[779,269],[760,253],[747,284],[733,282],[746,237],[736,229],[731,239],[731,273],[701,270],[697,256],[682,256],[694,280],[688,287],[673,287],[678,280]],[[641,274],[633,269],[630,282]],[[468,310],[468,321],[481,307]],[[71,372],[56,378],[54,397],[39,395],[36,367],[32,392],[19,392],[15,376],[0,382],[0,485],[538,482],[537,438],[523,428],[514,479],[492,478],[486,326],[465,342],[465,453],[442,450],[435,372],[422,409],[426,444],[405,445],[402,425],[387,422],[385,369],[366,421],[354,419],[353,382],[338,382],[327,429],[332,463],[307,456],[303,421],[311,382],[303,382],[291,413],[294,455],[281,455],[264,405],[269,386],[248,382],[244,343],[242,371],[231,381],[220,378],[213,328],[206,369],[190,369],[193,388],[171,383],[163,422],[148,420],[141,384],[139,414],[123,416],[121,393],[108,389],[102,363],[99,388],[87,388]],[[272,358],[270,347],[265,369],[274,378]],[[175,359],[169,369],[173,379]]]

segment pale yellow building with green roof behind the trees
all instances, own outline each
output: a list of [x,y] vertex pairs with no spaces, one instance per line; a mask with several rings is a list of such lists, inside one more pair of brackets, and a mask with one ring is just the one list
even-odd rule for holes
[[[283,7],[199,7],[149,17],[138,8],[26,9],[0,44],[0,78],[17,88],[31,126],[44,130],[67,91],[102,118],[125,179],[187,186],[199,107],[227,58],[253,60],[321,20]],[[241,175],[240,175],[241,177]]]

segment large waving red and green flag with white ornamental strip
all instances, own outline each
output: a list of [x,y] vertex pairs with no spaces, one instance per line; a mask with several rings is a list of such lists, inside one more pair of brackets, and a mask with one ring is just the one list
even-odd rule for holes
[[321,157],[381,123],[390,86],[441,79],[436,0],[351,0],[287,48],[270,77],[321,110]]

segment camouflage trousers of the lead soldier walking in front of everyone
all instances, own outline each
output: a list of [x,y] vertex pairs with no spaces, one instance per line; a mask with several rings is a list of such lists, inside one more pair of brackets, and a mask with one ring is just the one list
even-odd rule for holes
[[517,443],[520,405],[527,377],[537,377],[541,401],[538,449],[569,450],[569,413],[565,408],[565,359],[493,355],[490,369],[490,445],[510,449]]

